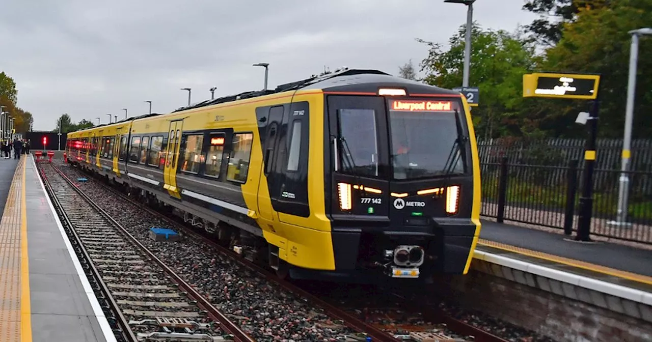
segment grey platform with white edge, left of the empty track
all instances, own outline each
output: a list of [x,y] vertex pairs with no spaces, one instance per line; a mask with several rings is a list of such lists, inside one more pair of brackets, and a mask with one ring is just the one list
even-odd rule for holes
[[115,341],[33,156],[14,169],[0,223],[0,341]]

